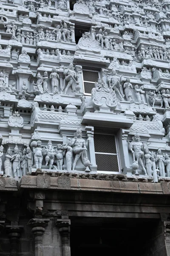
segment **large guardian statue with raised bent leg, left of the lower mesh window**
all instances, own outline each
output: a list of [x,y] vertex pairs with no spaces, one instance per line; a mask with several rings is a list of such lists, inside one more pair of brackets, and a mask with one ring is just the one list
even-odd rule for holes
[[80,157],[82,158],[82,163],[84,166],[89,167],[91,165],[87,156],[87,143],[88,140],[85,143],[85,140],[82,139],[82,131],[80,128],[77,128],[77,131],[74,133],[74,138],[71,140],[71,146],[73,148],[73,153],[75,154],[73,171],[75,170],[77,160],[79,160]]

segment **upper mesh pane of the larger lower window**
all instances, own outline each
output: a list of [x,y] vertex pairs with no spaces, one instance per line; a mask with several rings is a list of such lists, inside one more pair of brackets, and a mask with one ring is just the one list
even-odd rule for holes
[[95,152],[116,154],[116,142],[114,135],[94,134]]

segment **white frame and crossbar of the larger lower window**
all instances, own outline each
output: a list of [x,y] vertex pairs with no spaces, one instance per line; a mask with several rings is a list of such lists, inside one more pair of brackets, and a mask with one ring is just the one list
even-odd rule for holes
[[[95,151],[95,160],[96,160],[96,154],[106,154],[106,155],[116,155],[117,156],[117,162],[118,162],[118,168],[119,172],[111,172],[111,171],[98,171],[97,173],[101,174],[121,174],[121,165],[120,165],[120,157],[119,157],[119,147],[118,147],[118,141],[116,134],[108,134],[108,133],[100,133],[100,132],[94,132],[94,134],[101,134],[101,135],[111,135],[115,137],[115,144],[116,144],[116,153],[104,153],[104,152],[96,152]],[[94,137],[95,140],[95,137]],[[94,147],[95,150],[95,147]],[[96,163],[97,164],[97,163]]]

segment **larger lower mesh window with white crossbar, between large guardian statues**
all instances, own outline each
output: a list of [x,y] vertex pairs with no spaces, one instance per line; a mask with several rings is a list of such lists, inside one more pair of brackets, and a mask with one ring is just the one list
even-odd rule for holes
[[115,135],[95,133],[94,148],[98,172],[120,173],[119,155]]

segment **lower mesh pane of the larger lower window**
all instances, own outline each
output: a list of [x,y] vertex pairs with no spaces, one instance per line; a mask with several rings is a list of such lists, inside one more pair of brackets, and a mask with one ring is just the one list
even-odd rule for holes
[[116,155],[95,154],[97,171],[119,172],[119,165]]

